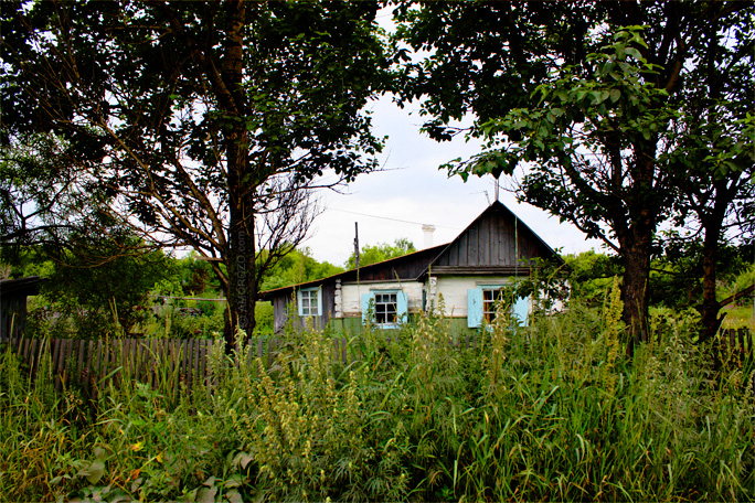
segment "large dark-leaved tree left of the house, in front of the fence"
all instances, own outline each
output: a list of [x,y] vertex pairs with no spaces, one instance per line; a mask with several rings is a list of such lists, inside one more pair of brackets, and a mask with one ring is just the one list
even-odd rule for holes
[[115,200],[114,215],[215,259],[231,343],[236,328],[254,329],[263,269],[304,236],[312,180],[375,167],[363,153],[381,142],[361,110],[385,67],[376,9],[7,3],[3,136],[54,131]]

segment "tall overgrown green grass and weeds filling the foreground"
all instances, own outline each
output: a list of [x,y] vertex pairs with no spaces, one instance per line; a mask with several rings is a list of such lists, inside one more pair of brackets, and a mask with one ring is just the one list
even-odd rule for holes
[[673,313],[629,360],[619,314],[614,297],[528,329],[501,315],[470,349],[422,318],[352,341],[348,365],[307,331],[268,371],[213,354],[191,395],[130,383],[96,403],[6,354],[0,500],[755,499],[752,366],[714,372]]

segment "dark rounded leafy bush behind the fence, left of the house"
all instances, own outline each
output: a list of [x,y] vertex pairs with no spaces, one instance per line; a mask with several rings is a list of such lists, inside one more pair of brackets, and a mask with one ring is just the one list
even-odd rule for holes
[[64,247],[23,247],[14,267],[17,274],[44,277],[35,312],[38,321],[51,323],[43,335],[79,339],[131,332],[145,319],[149,291],[172,269],[161,250],[118,227],[103,236],[73,236]]

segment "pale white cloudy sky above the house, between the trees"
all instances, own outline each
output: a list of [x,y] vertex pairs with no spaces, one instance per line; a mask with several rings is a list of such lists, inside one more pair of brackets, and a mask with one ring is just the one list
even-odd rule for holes
[[[492,176],[448,178],[438,170],[456,158],[469,158],[480,151],[479,143],[457,137],[450,142],[436,142],[419,132],[423,118],[416,107],[398,108],[391,97],[373,101],[374,133],[386,136],[385,148],[378,156],[381,171],[362,174],[341,190],[318,193],[322,213],[315,220],[309,247],[319,261],[343,266],[353,252],[354,223],[359,225],[360,247],[392,244],[406,237],[417,247],[424,245],[423,224],[436,227],[433,245],[450,243],[495,199]],[[501,185],[511,185],[501,176]],[[585,235],[568,223],[529,204],[517,202],[514,194],[501,188],[499,201],[529,225],[552,248],[562,254],[588,249],[602,250],[600,242]]]

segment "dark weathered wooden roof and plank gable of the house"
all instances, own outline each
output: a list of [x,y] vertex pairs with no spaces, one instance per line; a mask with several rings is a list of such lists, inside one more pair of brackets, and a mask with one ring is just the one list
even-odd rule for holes
[[534,258],[563,260],[540,236],[503,203],[488,206],[453,242],[392,258],[327,278],[259,293],[262,300],[289,296],[293,290],[315,288],[340,279],[348,281],[419,281],[433,274],[529,274]]

